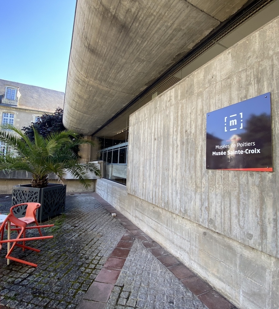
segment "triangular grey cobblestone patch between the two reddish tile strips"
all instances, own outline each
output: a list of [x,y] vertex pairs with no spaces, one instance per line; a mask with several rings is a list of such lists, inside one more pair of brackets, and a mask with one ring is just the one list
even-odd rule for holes
[[135,240],[105,309],[204,309],[193,295],[138,240]]

